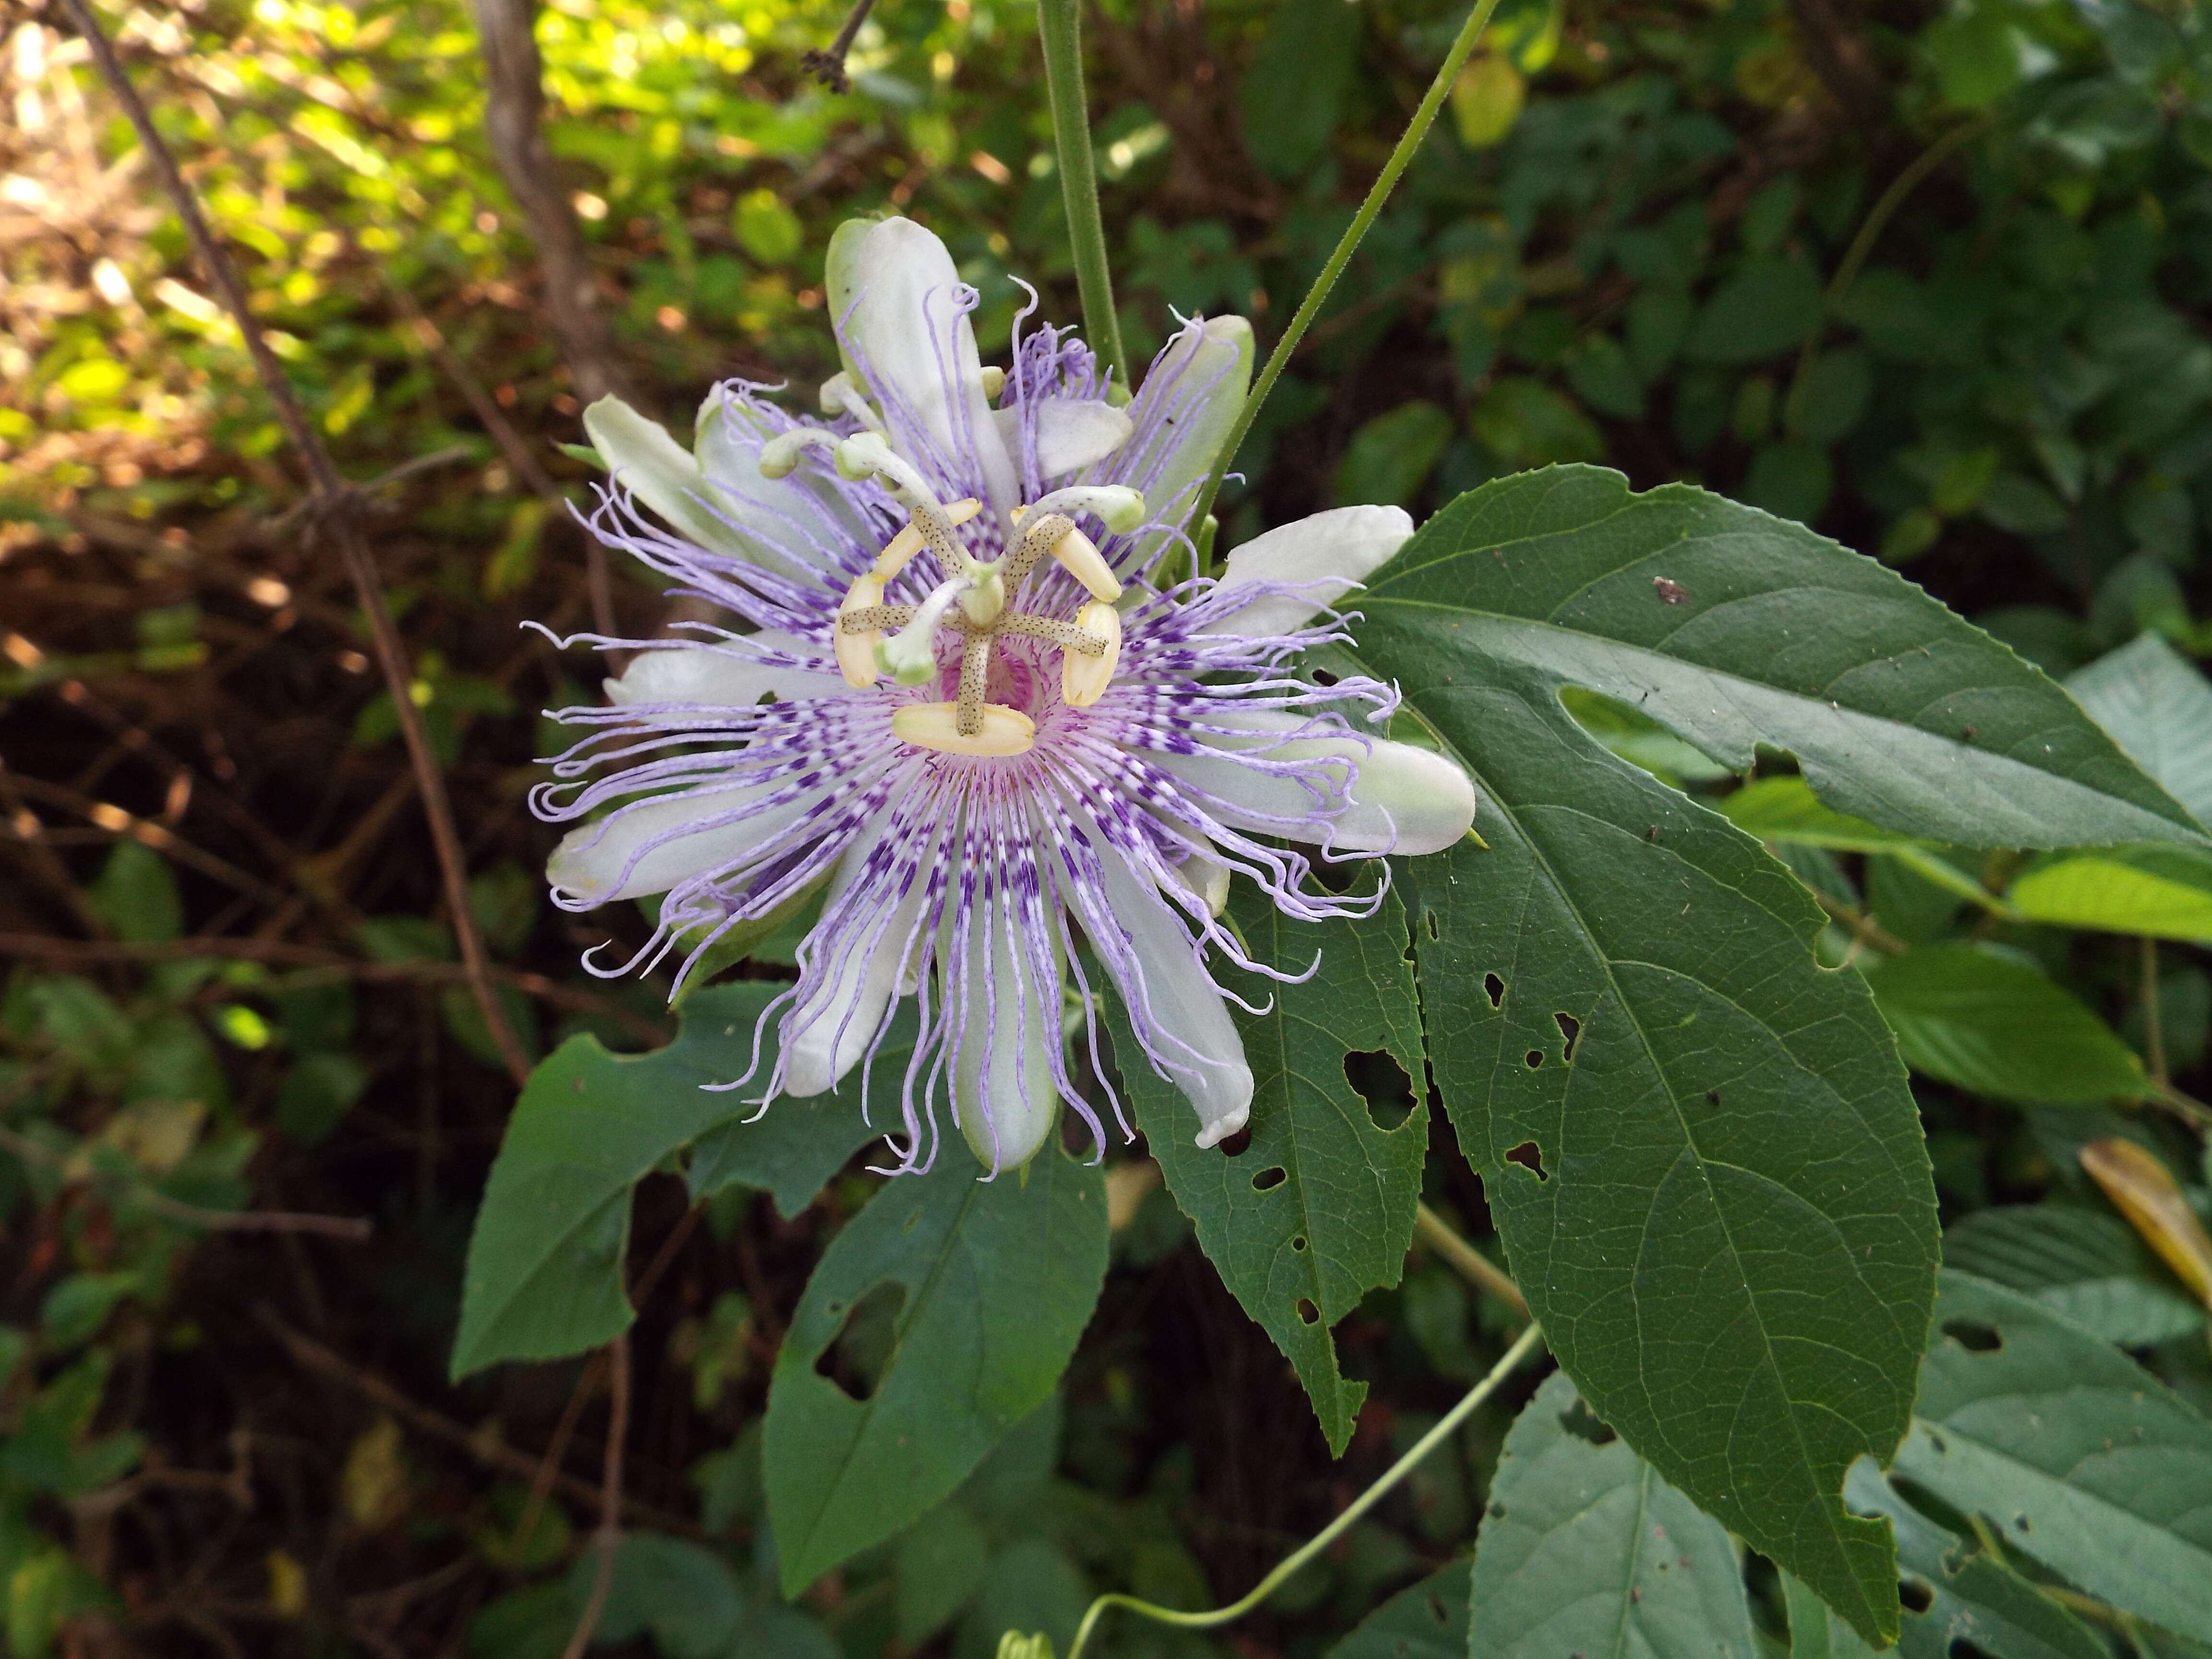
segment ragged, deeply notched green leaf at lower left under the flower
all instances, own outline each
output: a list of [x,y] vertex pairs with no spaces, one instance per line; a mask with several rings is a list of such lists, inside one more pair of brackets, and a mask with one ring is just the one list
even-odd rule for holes
[[[456,1378],[500,1360],[582,1354],[630,1327],[622,1287],[630,1190],[690,1141],[710,1137],[717,1170],[772,1188],[796,1214],[872,1137],[858,1079],[776,1102],[757,1124],[734,1121],[752,1115],[743,1091],[701,1088],[752,1068],[752,1031],[774,991],[763,982],[701,991],[677,1040],[648,1055],[571,1037],[538,1064],[476,1212]],[[770,1048],[754,1075],[772,1062]]]

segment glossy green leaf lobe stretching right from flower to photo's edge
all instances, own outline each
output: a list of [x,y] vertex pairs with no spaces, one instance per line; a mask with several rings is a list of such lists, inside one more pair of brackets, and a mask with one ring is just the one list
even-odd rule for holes
[[[1484,484],[1360,595],[1363,655],[1520,666],[1734,770],[1798,757],[1829,807],[1962,847],[2203,843],[2053,681],[1885,564],[1690,484],[1599,467]],[[1425,675],[1429,677],[1429,675]]]

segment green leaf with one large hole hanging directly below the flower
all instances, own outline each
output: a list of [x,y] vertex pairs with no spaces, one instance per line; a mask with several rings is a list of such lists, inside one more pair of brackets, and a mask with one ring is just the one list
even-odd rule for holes
[[[785,1595],[942,1500],[1060,1380],[1106,1279],[1106,1183],[1051,1141],[887,1181],[830,1241],[768,1389]],[[854,1376],[858,1374],[858,1376]]]

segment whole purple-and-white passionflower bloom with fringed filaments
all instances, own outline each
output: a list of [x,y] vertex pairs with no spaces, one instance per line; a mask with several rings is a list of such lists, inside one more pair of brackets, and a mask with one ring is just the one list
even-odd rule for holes
[[907,219],[838,230],[827,299],[845,369],[821,418],[748,383],[717,387],[692,449],[613,398],[584,416],[611,471],[591,531],[730,622],[586,637],[635,657],[606,708],[557,714],[593,732],[533,794],[577,823],[555,900],[666,894],[626,967],[690,973],[818,889],[761,1022],[761,1106],[874,1064],[911,998],[900,1170],[933,1161],[940,1104],[993,1172],[1062,1102],[1104,1146],[1066,1060],[1082,1033],[1099,1071],[1097,975],[1144,1048],[1124,1064],[1170,1077],[1214,1146],[1252,1071],[1208,964],[1290,978],[1219,920],[1230,878],[1287,916],[1367,914],[1380,883],[1325,891],[1314,856],[1436,852],[1475,812],[1453,763],[1374,734],[1394,688],[1294,672],[1413,526],[1338,509],[1188,575],[1250,383],[1241,319],[1188,323],[1126,398],[1079,341],[1022,334],[1029,312],[1011,365],[982,367],[975,290]]

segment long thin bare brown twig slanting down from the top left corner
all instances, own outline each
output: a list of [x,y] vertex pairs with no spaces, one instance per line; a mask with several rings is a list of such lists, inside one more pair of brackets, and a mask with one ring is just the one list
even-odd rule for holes
[[246,288],[239,283],[239,274],[230,265],[230,257],[223,252],[221,243],[215,241],[215,232],[208,228],[206,215],[199,210],[199,199],[184,181],[184,173],[177,170],[177,157],[170,155],[168,144],[153,124],[153,113],[146,108],[146,100],[137,95],[137,86],[131,82],[131,75],[124,73],[124,64],[115,55],[115,44],[100,27],[88,0],[62,0],[62,4],[77,24],[77,33],[84,35],[84,44],[91,49],[93,62],[100,64],[100,73],[108,82],[108,88],[115,93],[115,102],[122,104],[124,115],[131,117],[131,126],[139,135],[139,146],[144,148],[146,159],[153,164],[155,175],[161,179],[161,188],[177,208],[177,219],[184,223],[184,232],[192,241],[192,250],[199,254],[199,263],[208,272],[208,281],[223,296],[223,307],[237,323],[239,338],[246,341],[246,352],[254,361],[254,372],[261,376],[261,385],[276,405],[276,420],[283,425],[285,436],[292,440],[292,449],[299,451],[301,462],[307,467],[307,478],[314,487],[314,498],[319,500],[316,524],[330,529],[338,544],[338,557],[345,562],[345,573],[354,584],[354,595],[361,599],[363,615],[369,622],[369,639],[376,648],[376,664],[383,670],[385,688],[392,692],[392,708],[398,717],[400,737],[407,743],[407,759],[414,763],[416,785],[422,794],[422,816],[429,818],[431,843],[438,849],[438,867],[445,876],[445,900],[451,911],[453,936],[460,940],[460,956],[469,969],[469,989],[476,993],[478,1009],[484,1015],[484,1029],[491,1033],[500,1055],[507,1060],[515,1084],[522,1084],[522,1079],[529,1077],[531,1062],[529,1055],[522,1053],[522,1044],[515,1040],[515,1031],[507,1022],[507,1009],[500,1006],[498,991],[491,984],[484,938],[478,933],[476,916],[469,911],[469,872],[462,863],[460,832],[453,827],[453,805],[445,794],[445,779],[438,772],[438,759],[429,750],[429,734],[422,730],[422,710],[418,710],[414,697],[409,697],[414,670],[407,664],[407,648],[400,644],[398,628],[392,626],[392,611],[385,606],[385,588],[376,573],[376,562],[369,557],[369,544],[354,518],[356,491],[345,482],[345,478],[338,476],[336,462],[330,458],[323,440],[307,422],[305,411],[299,407],[299,398],[292,396],[292,385],[285,380],[283,369],[276,363],[276,354],[270,352],[270,343],[261,334],[261,325],[254,321],[254,314],[246,303]]

